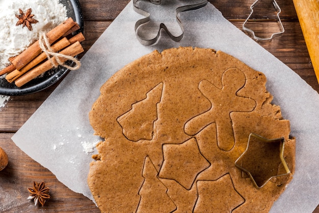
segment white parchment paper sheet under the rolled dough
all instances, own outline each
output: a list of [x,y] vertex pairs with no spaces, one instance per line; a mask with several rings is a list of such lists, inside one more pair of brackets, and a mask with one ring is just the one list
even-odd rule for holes
[[93,136],[88,113],[100,86],[124,65],[154,49],[196,46],[222,50],[263,72],[274,104],[290,120],[296,137],[296,173],[272,212],[311,212],[319,203],[319,95],[294,71],[228,22],[211,4],[182,12],[184,38],[167,36],[152,46],[141,45],[134,25],[142,18],[130,2],[82,58],[82,68],[70,72],[57,89],[12,137],[31,158],[53,172],[71,190],[92,199],[87,186],[91,154],[85,143]]

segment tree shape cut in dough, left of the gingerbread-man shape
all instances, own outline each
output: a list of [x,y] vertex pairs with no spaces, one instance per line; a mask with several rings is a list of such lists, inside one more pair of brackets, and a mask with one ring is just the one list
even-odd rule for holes
[[131,110],[117,118],[123,135],[131,141],[151,140],[153,124],[157,119],[157,103],[161,101],[163,83],[146,94],[146,99],[132,104]]

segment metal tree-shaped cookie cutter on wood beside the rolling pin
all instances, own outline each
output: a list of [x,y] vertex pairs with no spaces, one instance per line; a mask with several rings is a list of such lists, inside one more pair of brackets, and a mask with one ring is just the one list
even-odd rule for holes
[[256,2],[254,2],[254,4],[252,4],[252,5],[250,6],[250,15],[248,16],[248,18],[246,19],[246,21],[243,23],[243,31],[246,32],[247,34],[249,34],[249,35],[250,35],[255,41],[257,41],[257,42],[270,41],[270,40],[272,40],[272,39],[275,38],[275,37],[280,37],[280,36],[285,32],[285,29],[284,29],[284,27],[283,27],[283,25],[282,25],[282,23],[281,23],[280,17],[279,17],[279,14],[280,14],[280,12],[281,12],[281,9],[280,9],[280,7],[278,6],[278,4],[277,4],[277,2],[276,2],[275,0],[272,0],[272,3],[273,3],[273,5],[274,5],[274,7],[275,7],[275,9],[276,9],[276,11],[277,11],[276,19],[277,19],[277,23],[278,23],[280,32],[272,34],[271,37],[269,37],[269,38],[260,38],[260,37],[257,37],[257,36],[255,35],[255,32],[254,32],[252,29],[250,29],[250,28],[248,28],[248,27],[245,26],[245,25],[247,24],[248,20],[250,19],[250,17],[252,16],[253,12],[254,12],[253,8],[254,8],[258,3],[259,3],[259,0],[256,0]]

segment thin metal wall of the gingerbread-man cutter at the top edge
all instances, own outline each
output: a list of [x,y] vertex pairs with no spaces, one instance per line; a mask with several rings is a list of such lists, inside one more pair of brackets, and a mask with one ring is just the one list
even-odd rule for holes
[[[142,18],[140,20],[138,20],[136,23],[135,23],[135,34],[137,36],[137,39],[138,41],[143,44],[143,45],[152,45],[152,44],[155,44],[161,34],[161,29],[164,29],[164,31],[168,34],[168,36],[175,42],[179,42],[183,36],[184,36],[184,27],[183,27],[183,24],[182,24],[182,21],[180,20],[178,14],[180,12],[184,12],[184,11],[190,11],[190,10],[197,10],[199,8],[202,8],[204,6],[207,5],[207,0],[191,0],[191,1],[181,1],[181,0],[178,0],[177,2],[179,2],[179,5],[177,4],[177,7],[176,7],[176,10],[175,10],[175,16],[176,16],[176,20],[181,28],[181,34],[178,35],[178,36],[174,36],[168,29],[168,27],[165,25],[165,23],[161,23],[159,24],[159,28],[158,28],[158,32],[157,32],[157,35],[151,39],[149,38],[145,38],[143,36],[140,36],[138,34],[138,28],[149,22],[151,20],[151,14],[145,10],[143,10],[140,6],[139,6],[139,2],[148,2],[148,3],[151,3],[153,5],[156,5],[156,6],[161,6],[162,5],[162,2],[163,1],[167,1],[167,0],[133,0],[133,9],[145,16],[145,18]],[[176,0],[174,0],[176,2]],[[173,2],[173,1],[171,1]],[[188,2],[187,4],[183,4],[182,2]]]

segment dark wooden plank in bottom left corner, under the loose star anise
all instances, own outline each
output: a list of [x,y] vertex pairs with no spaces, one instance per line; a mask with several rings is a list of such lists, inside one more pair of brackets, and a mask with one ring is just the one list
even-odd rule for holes
[[[82,194],[75,193],[57,180],[48,169],[42,167],[19,149],[10,139],[13,134],[0,134],[0,147],[9,158],[8,166],[0,171],[0,211],[10,212],[99,212],[96,205]],[[44,207],[34,206],[28,200],[28,188],[33,181],[45,182],[51,198]]]

